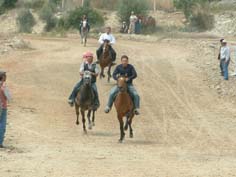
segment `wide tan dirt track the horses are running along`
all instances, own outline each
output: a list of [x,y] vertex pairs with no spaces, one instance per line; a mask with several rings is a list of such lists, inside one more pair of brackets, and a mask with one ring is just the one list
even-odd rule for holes
[[117,41],[118,58],[127,54],[137,68],[141,96],[134,138],[119,144],[115,110],[103,113],[114,81],[98,80],[101,108],[87,135],[67,104],[81,55],[96,40],[85,48],[79,39],[24,38],[34,50],[0,56],[14,98],[1,177],[236,176],[235,105],[205,85],[184,42]]

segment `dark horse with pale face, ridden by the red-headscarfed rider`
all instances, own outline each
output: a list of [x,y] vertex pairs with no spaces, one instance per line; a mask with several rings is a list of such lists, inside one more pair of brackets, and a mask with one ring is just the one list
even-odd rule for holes
[[[91,73],[90,71],[85,71],[83,74],[83,84],[76,96],[75,99],[75,112],[77,116],[76,124],[79,124],[79,112],[81,112],[82,115],[82,122],[83,122],[83,129],[84,132],[87,133],[86,126],[85,126],[85,111],[88,111],[87,118],[89,122],[89,129],[92,129],[92,126],[95,125],[95,111],[96,108],[94,108],[94,91],[91,85]],[[92,112],[92,123],[90,120]]]

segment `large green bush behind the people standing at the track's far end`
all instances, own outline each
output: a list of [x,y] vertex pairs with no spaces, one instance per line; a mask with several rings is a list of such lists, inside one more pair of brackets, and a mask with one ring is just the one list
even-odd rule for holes
[[118,4],[120,21],[128,22],[132,11],[134,11],[136,15],[145,16],[147,10],[148,3],[146,0],[120,0]]

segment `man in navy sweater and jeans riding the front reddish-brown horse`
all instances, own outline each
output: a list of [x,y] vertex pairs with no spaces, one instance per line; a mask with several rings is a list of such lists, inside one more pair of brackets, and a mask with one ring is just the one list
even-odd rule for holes
[[[113,78],[115,80],[117,80],[118,75],[127,76],[126,82],[127,82],[127,86],[128,86],[128,92],[130,93],[130,95],[133,99],[133,102],[134,102],[134,113],[136,115],[139,115],[140,98],[139,98],[139,95],[138,95],[136,89],[133,86],[133,79],[135,79],[137,77],[137,73],[136,73],[133,65],[129,64],[128,62],[129,62],[128,56],[123,55],[121,57],[121,64],[118,65],[116,67],[115,71],[113,72]],[[107,106],[105,108],[105,113],[108,113],[111,110],[113,101],[115,100],[115,97],[118,92],[119,92],[119,89],[118,89],[117,85],[111,89],[109,100],[108,100]]]

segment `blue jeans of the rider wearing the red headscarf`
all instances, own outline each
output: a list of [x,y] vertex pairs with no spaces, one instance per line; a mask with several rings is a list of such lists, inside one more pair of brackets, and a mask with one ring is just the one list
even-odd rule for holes
[[[69,100],[72,100],[73,102],[75,101],[75,98],[76,98],[76,95],[80,89],[80,87],[82,86],[83,84],[83,80],[80,80],[74,87],[72,93],[70,94],[69,96]],[[94,93],[95,93],[95,105],[100,105],[100,102],[99,102],[99,98],[98,98],[98,89],[97,89],[97,86],[96,86],[96,83],[92,83],[92,88],[94,90]]]

